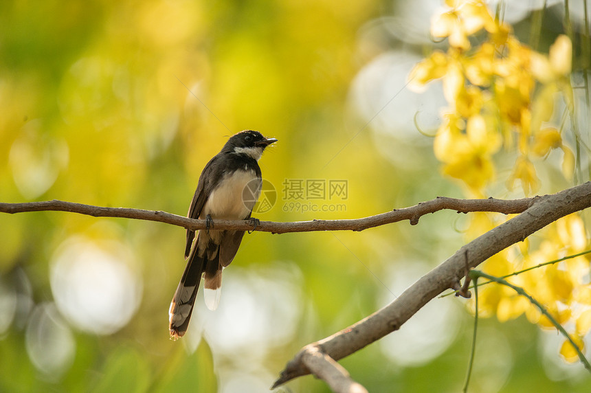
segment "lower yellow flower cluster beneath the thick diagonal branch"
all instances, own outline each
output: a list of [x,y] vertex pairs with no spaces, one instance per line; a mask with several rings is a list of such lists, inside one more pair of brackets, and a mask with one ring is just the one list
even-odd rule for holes
[[[473,221],[474,227],[471,229],[478,232],[487,224],[493,226],[484,213],[476,221]],[[529,295],[542,303],[550,315],[566,327],[579,348],[583,348],[583,337],[591,330],[591,284],[585,279],[589,272],[589,260],[585,256],[577,256],[557,263],[548,262],[579,254],[587,247],[583,221],[577,214],[571,214],[548,227],[535,251],[529,251],[533,247],[529,240],[525,240],[489,258],[482,269],[497,277],[531,269],[506,280],[524,288]],[[525,314],[530,322],[541,328],[555,329],[537,306],[509,287],[484,285],[480,289],[478,300],[482,315],[496,315],[500,322]],[[578,360],[575,350],[567,340],[564,340],[560,353],[568,361]]]

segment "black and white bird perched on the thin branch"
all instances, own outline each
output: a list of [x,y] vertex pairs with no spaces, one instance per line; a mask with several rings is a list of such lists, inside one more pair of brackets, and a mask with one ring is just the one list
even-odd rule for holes
[[230,265],[244,231],[215,229],[214,219],[248,220],[256,227],[252,210],[260,194],[262,177],[258,160],[276,138],[246,130],[227,140],[221,151],[205,165],[188,217],[205,219],[206,229],[187,229],[187,265],[168,310],[170,338],[185,335],[201,276],[204,278],[205,305],[215,310],[221,295],[222,270]]

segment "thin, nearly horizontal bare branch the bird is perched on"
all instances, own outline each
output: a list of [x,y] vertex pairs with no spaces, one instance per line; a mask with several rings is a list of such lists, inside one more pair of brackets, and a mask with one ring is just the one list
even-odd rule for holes
[[[467,212],[498,212],[504,214],[521,213],[535,201],[534,198],[524,199],[454,199],[447,197],[437,197],[431,201],[421,202],[412,207],[392,210],[375,216],[357,218],[350,220],[313,220],[296,221],[293,223],[276,223],[273,221],[260,221],[256,230],[260,232],[272,232],[274,234],[285,234],[288,232],[311,232],[311,231],[338,231],[351,230],[362,231],[364,229],[379,227],[398,221],[408,220],[412,225],[419,223],[419,218],[427,213],[438,212],[439,210],[456,210],[458,213]],[[58,201],[26,202],[26,203],[0,203],[0,212],[3,213],[21,213],[21,212],[41,212],[58,211],[86,214],[93,217],[119,217],[133,218],[136,220],[158,221],[185,227],[187,229],[205,229],[205,220],[194,220],[177,214],[161,212],[159,210],[140,210],[129,209],[126,207],[101,207],[93,205],[83,205],[82,203],[73,203]],[[228,221],[214,220],[216,229],[240,229],[243,231],[252,230],[250,221]]]

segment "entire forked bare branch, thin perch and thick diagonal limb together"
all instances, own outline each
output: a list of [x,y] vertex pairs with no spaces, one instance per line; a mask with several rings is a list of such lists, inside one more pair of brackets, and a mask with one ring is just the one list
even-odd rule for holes
[[[515,200],[501,199],[453,199],[437,197],[375,216],[349,220],[314,220],[291,223],[260,221],[256,230],[282,234],[287,232],[311,232],[326,230],[362,231],[388,223],[408,220],[411,225],[419,223],[419,218],[427,213],[439,210],[467,212],[499,212],[518,214],[506,223],[471,241],[441,265],[427,273],[412,287],[404,291],[397,300],[349,326],[348,328],[305,346],[287,363],[280,378],[274,383],[276,388],[291,379],[313,373],[324,379],[337,392],[365,392],[365,388],[350,379],[348,372],[337,360],[364,348],[381,337],[400,328],[416,311],[427,304],[433,297],[448,288],[458,287],[458,282],[465,276],[467,269],[476,267],[502,249],[524,240],[538,229],[556,221],[558,218],[583,210],[591,206],[591,182],[544,197]],[[87,214],[95,217],[133,218],[158,221],[185,227],[205,229],[205,220],[177,216],[167,212],[138,210],[124,207],[100,207],[65,201],[43,201],[30,203],[0,203],[0,212],[39,212],[63,211]],[[253,229],[250,221],[214,221],[216,229]]]

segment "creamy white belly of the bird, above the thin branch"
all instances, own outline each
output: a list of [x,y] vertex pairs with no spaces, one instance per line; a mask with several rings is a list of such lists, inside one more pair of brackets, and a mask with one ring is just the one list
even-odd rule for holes
[[[254,201],[244,201],[243,191],[247,183],[254,179],[256,179],[254,170],[236,170],[231,175],[226,175],[205,202],[200,218],[205,218],[208,214],[213,219],[219,220],[246,218],[252,211]],[[260,186],[258,193],[260,193]],[[255,199],[258,199],[258,193]]]

